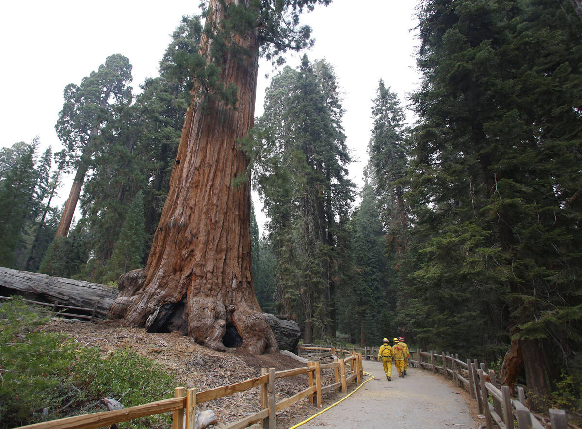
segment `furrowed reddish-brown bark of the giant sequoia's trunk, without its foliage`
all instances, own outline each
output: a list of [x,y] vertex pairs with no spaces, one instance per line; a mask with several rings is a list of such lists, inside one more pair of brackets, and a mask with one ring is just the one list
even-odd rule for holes
[[[220,2],[211,0],[207,20],[219,26],[222,19]],[[193,92],[147,265],[122,280],[109,315],[149,331],[179,330],[213,349],[240,345],[261,354],[278,347],[253,289],[250,187],[232,184],[247,167],[236,140],[253,126],[257,35],[254,28],[235,36],[250,58],[231,51],[222,58],[222,83],[239,89],[236,109]],[[204,36],[207,62],[211,45]],[[227,336],[235,342],[223,342]]]

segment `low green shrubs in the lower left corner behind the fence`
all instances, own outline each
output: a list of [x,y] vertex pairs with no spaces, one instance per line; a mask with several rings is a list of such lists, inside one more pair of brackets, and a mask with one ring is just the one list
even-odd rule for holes
[[[84,348],[61,334],[34,331],[47,319],[15,297],[0,304],[0,427],[8,428],[76,413],[102,411],[102,398],[135,406],[169,398],[175,380],[158,364],[130,349],[102,357],[98,348]],[[123,398],[123,399],[120,399]],[[167,416],[123,423],[151,427]]]

